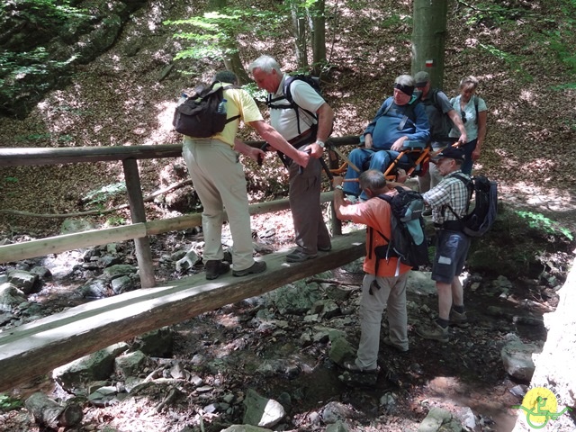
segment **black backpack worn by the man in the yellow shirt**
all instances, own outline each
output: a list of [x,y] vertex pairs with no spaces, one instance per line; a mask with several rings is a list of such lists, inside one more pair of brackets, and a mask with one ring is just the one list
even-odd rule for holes
[[224,130],[229,121],[240,117],[236,115],[227,118],[227,112],[218,112],[218,105],[224,99],[224,90],[238,87],[220,85],[214,88],[217,83],[196,87],[194,94],[176,107],[172,124],[177,132],[193,138],[209,138]]

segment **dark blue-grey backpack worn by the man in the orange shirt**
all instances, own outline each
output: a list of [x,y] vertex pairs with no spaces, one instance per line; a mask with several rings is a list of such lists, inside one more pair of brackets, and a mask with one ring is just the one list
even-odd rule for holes
[[[420,193],[400,186],[396,187],[396,190],[398,193],[394,196],[378,195],[378,198],[388,202],[392,208],[392,238],[387,238],[382,232],[377,231],[388,244],[374,248],[374,253],[378,257],[376,275],[380,259],[398,257],[402,263],[412,267],[430,264],[428,238],[422,217],[424,199]],[[370,234],[372,241],[374,232]],[[369,250],[372,251],[372,245]]]

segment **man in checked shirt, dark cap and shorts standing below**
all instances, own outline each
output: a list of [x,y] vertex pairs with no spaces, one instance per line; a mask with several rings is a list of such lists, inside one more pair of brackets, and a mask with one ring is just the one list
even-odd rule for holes
[[[461,168],[464,150],[448,146],[433,163],[444,178],[436,187],[424,193],[424,202],[432,208],[432,220],[437,228],[436,257],[432,279],[438,293],[438,318],[429,328],[416,329],[420,337],[447,342],[448,325],[465,325],[464,290],[459,275],[470,247],[470,238],[461,230],[458,218],[464,217],[470,193],[463,180],[470,180]],[[459,179],[460,177],[461,179]]]

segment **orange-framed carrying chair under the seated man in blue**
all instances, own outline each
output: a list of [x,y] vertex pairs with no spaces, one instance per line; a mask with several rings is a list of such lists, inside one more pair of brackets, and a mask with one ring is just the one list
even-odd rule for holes
[[[340,157],[343,155],[337,151]],[[409,177],[426,175],[428,173],[428,168],[430,164],[430,158],[432,157],[432,148],[426,143],[420,143],[411,141],[410,148],[405,148],[400,152],[398,157],[392,160],[392,163],[384,171],[384,176],[388,181],[396,180],[398,175],[398,170],[403,169],[406,171],[406,175]],[[344,158],[344,157],[343,157]],[[365,166],[361,167],[361,171],[368,169],[370,161],[365,162]],[[348,168],[348,161],[338,166],[338,168],[330,169],[332,175],[346,175]],[[353,168],[357,168],[354,167]],[[356,169],[358,171],[358,169]]]

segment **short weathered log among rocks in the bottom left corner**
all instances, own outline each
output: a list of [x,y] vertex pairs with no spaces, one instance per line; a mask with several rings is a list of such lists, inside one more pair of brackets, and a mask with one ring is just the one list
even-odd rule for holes
[[75,402],[60,405],[44,393],[33,393],[24,403],[37,423],[49,428],[72,427],[82,421],[82,407]]

